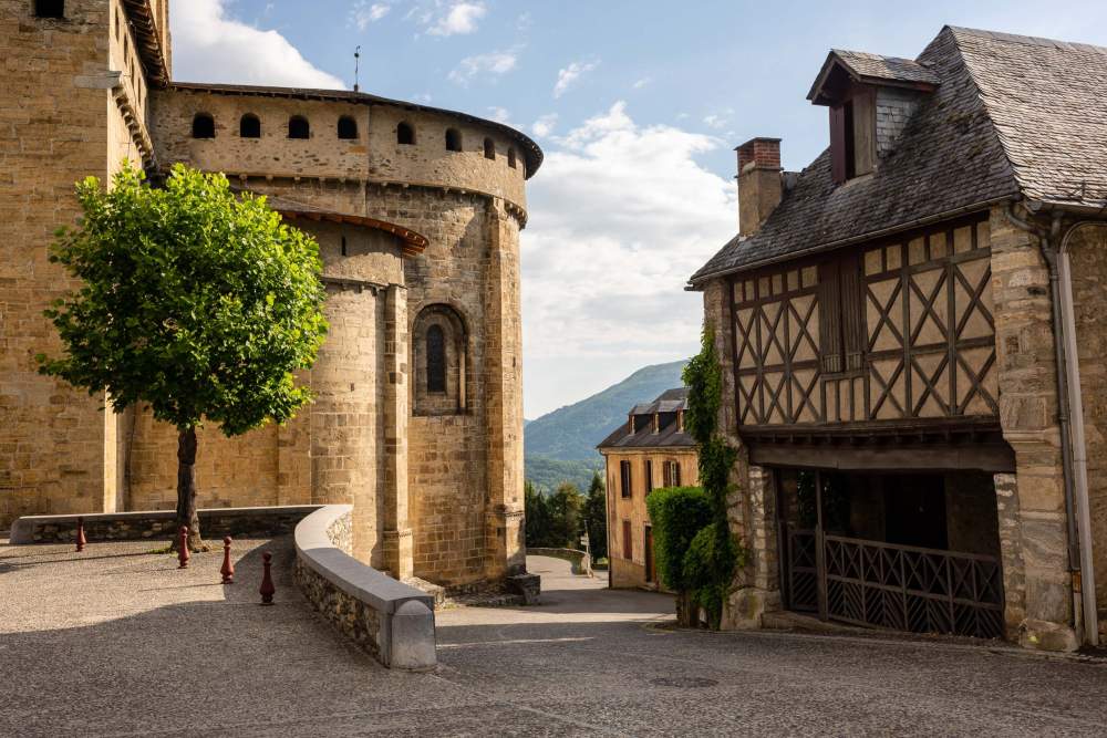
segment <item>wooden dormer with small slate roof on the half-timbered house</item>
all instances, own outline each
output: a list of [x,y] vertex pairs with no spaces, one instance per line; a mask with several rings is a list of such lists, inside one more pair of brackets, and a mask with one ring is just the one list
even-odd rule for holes
[[[830,108],[830,171],[838,184],[877,169],[938,75],[910,59],[834,50],[807,98]],[[879,124],[878,124],[879,119]]]

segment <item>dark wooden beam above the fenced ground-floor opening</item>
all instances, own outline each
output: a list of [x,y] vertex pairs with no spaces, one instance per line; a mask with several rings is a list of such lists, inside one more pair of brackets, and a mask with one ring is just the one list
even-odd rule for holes
[[1013,472],[1015,453],[996,418],[742,426],[749,461],[849,471]]

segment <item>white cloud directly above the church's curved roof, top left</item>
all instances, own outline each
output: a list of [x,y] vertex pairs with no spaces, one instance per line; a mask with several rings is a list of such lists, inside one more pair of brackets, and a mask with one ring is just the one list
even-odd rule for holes
[[277,31],[227,17],[228,0],[188,0],[174,6],[173,75],[194,82],[234,82],[344,89],[315,67]]

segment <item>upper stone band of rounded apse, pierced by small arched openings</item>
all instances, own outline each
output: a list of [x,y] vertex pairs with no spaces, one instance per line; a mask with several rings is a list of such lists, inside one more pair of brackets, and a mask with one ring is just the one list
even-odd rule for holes
[[[526,207],[523,149],[493,126],[397,105],[341,100],[306,101],[187,87],[170,87],[156,92],[154,97],[154,138],[163,165],[187,162],[228,175],[439,185],[501,197]],[[197,113],[215,118],[215,138],[192,137]],[[239,135],[245,114],[260,118],[260,138]],[[338,137],[338,121],[343,115],[358,123],[358,138]],[[291,116],[308,119],[308,139],[288,137]],[[397,142],[401,123],[414,127],[414,145]],[[447,129],[457,131],[462,150],[446,148]],[[496,149],[495,158],[485,156],[486,138]],[[514,168],[509,165],[510,150],[516,152]]]

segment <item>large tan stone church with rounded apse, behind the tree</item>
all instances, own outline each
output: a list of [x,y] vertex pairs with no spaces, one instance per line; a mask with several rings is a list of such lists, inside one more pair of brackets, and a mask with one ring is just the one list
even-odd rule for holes
[[39,376],[73,185],[183,162],[320,245],[330,333],[284,426],[199,438],[200,507],[353,505],[354,553],[446,586],[525,565],[519,231],[538,146],[346,91],[184,84],[169,0],[0,0],[0,529],[174,507],[174,429]]

